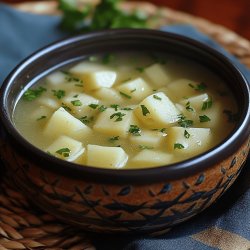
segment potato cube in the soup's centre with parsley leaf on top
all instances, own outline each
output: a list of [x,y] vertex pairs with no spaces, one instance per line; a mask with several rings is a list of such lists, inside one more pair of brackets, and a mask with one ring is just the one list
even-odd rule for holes
[[107,108],[100,113],[93,126],[95,131],[106,135],[127,137],[130,124],[134,124],[133,112]]

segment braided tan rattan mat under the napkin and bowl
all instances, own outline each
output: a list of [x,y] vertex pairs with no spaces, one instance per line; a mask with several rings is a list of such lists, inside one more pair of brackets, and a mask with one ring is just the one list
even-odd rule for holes
[[[80,1],[86,2],[86,0]],[[37,14],[58,13],[54,1],[36,1],[18,4],[15,7]],[[162,24],[191,24],[216,40],[242,63],[250,67],[250,42],[222,26],[168,8],[159,8],[149,3],[123,3],[122,7],[126,10],[139,7],[140,10],[144,10],[149,15],[157,13],[157,19],[151,24],[154,28]],[[8,182],[8,177],[5,176],[0,185],[0,250],[6,249],[90,250],[95,248],[91,244],[88,234],[65,225],[53,216],[34,207]]]

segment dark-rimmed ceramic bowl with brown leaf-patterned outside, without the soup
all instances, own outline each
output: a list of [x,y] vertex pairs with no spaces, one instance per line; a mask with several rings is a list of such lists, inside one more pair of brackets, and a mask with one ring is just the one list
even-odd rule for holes
[[[18,133],[12,115],[23,86],[79,58],[131,49],[177,53],[220,74],[239,106],[240,119],[233,132],[218,146],[189,160],[140,170],[69,163],[42,152]],[[36,52],[5,80],[0,111],[7,139],[1,154],[20,189],[64,221],[95,232],[162,231],[203,211],[235,181],[249,151],[249,103],[249,87],[239,70],[201,43],[153,30],[89,33]]]

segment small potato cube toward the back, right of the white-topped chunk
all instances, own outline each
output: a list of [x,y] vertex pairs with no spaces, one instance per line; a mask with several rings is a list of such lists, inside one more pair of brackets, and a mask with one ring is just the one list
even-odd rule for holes
[[142,78],[127,81],[118,86],[117,90],[131,96],[131,99],[136,101],[141,101],[152,93],[152,89]]

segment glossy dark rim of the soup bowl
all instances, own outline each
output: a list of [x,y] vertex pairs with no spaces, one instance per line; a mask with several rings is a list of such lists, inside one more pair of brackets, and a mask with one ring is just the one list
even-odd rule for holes
[[[236,129],[234,129],[229,136],[224,139],[220,144],[213,147],[212,149],[189,158],[187,160],[177,162],[174,164],[163,165],[158,167],[144,168],[144,169],[104,169],[96,168],[91,166],[79,165],[70,163],[54,156],[50,156],[42,150],[36,148],[30,144],[24,137],[22,137],[17,129],[15,128],[11,119],[7,114],[5,107],[7,91],[11,89],[12,84],[16,80],[16,76],[34,60],[39,60],[39,57],[53,51],[54,49],[66,46],[68,44],[74,44],[81,40],[98,37],[116,37],[119,35],[136,35],[136,36],[163,36],[167,39],[177,39],[178,41],[188,43],[190,46],[196,46],[200,49],[204,49],[213,57],[219,59],[223,64],[234,71],[235,77],[239,79],[239,83],[245,88],[246,93],[244,98],[248,100],[248,106],[244,107],[244,116],[241,118]],[[238,83],[238,84],[239,84]],[[32,55],[24,59],[20,64],[14,68],[14,70],[8,75],[3,85],[1,86],[0,92],[0,114],[1,121],[4,125],[5,130],[9,136],[15,140],[26,152],[31,152],[41,160],[40,163],[49,163],[43,166],[37,164],[39,167],[43,167],[49,171],[60,173],[64,176],[70,176],[72,178],[81,179],[93,179],[94,181],[121,183],[121,182],[135,182],[136,183],[148,183],[157,182],[166,179],[178,179],[187,175],[195,174],[197,172],[204,171],[223,159],[226,159],[230,154],[237,151],[240,146],[249,139],[249,123],[250,123],[250,94],[249,84],[240,70],[223,54],[216,51],[215,49],[205,45],[197,40],[193,40],[183,35],[174,34],[166,31],[149,30],[149,29],[115,29],[115,30],[103,30],[90,32],[87,34],[77,35],[74,37],[59,40],[51,43],[44,48],[34,52]],[[246,102],[247,103],[247,102]],[[34,159],[33,159],[34,160]],[[118,178],[118,179],[117,179]]]

